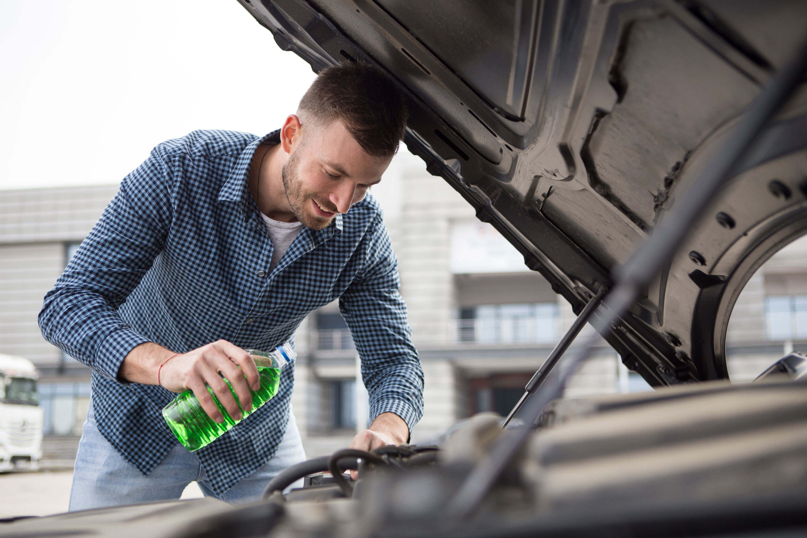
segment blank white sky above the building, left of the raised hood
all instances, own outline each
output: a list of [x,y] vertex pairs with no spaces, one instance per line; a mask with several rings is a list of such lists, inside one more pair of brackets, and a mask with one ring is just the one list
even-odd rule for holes
[[4,0],[0,189],[120,181],[194,129],[266,134],[314,77],[235,0]]

